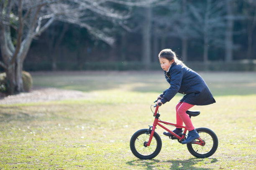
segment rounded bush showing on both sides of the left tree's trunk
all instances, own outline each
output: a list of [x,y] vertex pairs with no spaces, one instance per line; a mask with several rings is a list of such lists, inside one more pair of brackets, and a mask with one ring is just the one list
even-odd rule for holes
[[[22,71],[22,81],[23,81],[23,89],[25,92],[29,92],[32,87],[32,77],[29,72]],[[5,93],[7,92],[7,82],[6,82],[6,73],[0,74],[0,92]]]

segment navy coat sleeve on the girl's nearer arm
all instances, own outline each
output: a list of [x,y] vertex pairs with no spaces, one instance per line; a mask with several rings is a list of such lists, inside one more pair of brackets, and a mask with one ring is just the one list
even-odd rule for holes
[[164,104],[169,102],[179,91],[181,82],[182,82],[182,70],[178,68],[173,68],[170,72],[171,80],[170,80],[170,87],[164,91],[164,95],[161,99],[161,102]]

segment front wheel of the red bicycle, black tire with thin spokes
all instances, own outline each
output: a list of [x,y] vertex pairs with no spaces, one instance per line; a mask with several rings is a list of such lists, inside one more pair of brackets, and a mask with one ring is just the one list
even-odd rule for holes
[[160,136],[156,132],[154,132],[150,146],[144,146],[144,143],[148,142],[150,133],[151,130],[150,132],[148,132],[148,129],[141,129],[134,133],[133,136],[131,137],[131,151],[133,155],[135,155],[139,159],[152,159],[155,158],[160,153],[160,150],[162,148],[162,141]]

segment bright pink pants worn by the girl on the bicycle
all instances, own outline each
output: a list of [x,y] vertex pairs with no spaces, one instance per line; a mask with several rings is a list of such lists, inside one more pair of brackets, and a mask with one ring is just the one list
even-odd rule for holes
[[176,122],[177,125],[186,125],[187,130],[194,130],[194,126],[191,122],[191,119],[189,118],[189,115],[186,113],[187,110],[189,110],[191,107],[193,107],[194,105],[190,105],[186,102],[179,102],[176,105]]

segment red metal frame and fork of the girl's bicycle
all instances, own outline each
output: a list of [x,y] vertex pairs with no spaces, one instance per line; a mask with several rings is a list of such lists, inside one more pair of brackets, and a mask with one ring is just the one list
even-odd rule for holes
[[[187,133],[187,128],[186,126],[181,126],[181,125],[177,125],[177,124],[174,124],[174,123],[170,123],[170,122],[164,122],[164,121],[161,121],[159,120],[159,116],[160,114],[157,113],[158,111],[158,108],[159,106],[156,106],[156,110],[154,112],[154,117],[155,117],[155,120],[154,120],[154,123],[153,123],[153,127],[152,127],[152,130],[151,130],[151,134],[150,134],[150,137],[149,137],[149,140],[148,140],[148,143],[147,143],[147,146],[150,146],[150,143],[151,143],[151,140],[153,138],[153,135],[154,135],[154,132],[155,132],[155,129],[156,129],[156,125],[159,125],[161,128],[163,128],[164,130],[167,130],[169,133],[171,133],[172,135],[174,135],[176,138],[178,138],[179,140],[182,140],[185,138],[185,134]],[[184,132],[182,134],[182,137],[180,137],[179,135],[177,135],[176,133],[172,132],[172,130],[169,130],[168,128],[164,127],[163,125],[161,125],[161,123],[164,123],[166,125],[172,125],[172,126],[175,126],[177,128],[184,128]],[[205,142],[198,138],[199,141],[195,141],[194,144],[198,144],[198,145],[205,145]]]

